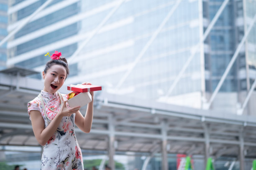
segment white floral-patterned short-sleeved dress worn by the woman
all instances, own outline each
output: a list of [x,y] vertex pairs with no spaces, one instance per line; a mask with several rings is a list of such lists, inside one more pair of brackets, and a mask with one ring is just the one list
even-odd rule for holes
[[[67,100],[66,95],[61,95],[64,100]],[[59,95],[57,92],[52,95],[42,90],[41,96],[46,104],[46,114],[52,120],[56,116],[56,112],[61,109]],[[43,105],[39,97],[28,102],[29,117],[31,110],[41,112],[44,118],[44,128],[46,128],[49,122],[44,115]],[[41,170],[84,170],[81,149],[74,133],[74,118],[75,114],[70,117],[63,117],[59,125],[59,129],[62,131],[56,130],[46,143],[41,159]]]

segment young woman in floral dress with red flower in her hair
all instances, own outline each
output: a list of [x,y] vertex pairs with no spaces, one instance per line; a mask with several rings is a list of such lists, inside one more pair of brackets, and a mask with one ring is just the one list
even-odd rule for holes
[[[74,124],[83,132],[90,132],[93,92],[90,92],[92,102],[88,103],[85,116],[79,111],[80,107],[67,107],[66,95],[58,92],[69,75],[67,60],[52,56],[51,58],[54,60],[47,62],[43,71],[44,90],[28,102],[28,115],[34,135],[40,145],[45,145],[41,170],[84,170]],[[83,84],[91,85],[89,82]]]

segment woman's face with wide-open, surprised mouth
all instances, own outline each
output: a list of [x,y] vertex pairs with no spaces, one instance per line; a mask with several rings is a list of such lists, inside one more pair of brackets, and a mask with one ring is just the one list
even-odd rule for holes
[[62,65],[52,65],[46,73],[43,72],[44,91],[54,94],[63,85],[67,71]]

